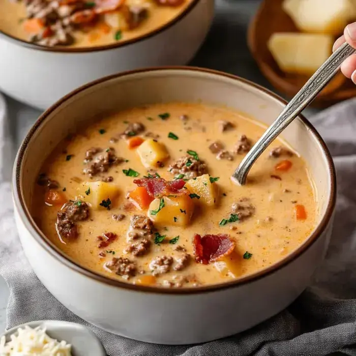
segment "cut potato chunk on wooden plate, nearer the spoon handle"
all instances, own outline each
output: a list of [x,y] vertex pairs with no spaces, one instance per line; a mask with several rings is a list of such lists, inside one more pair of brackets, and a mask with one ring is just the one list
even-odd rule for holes
[[282,71],[311,75],[331,55],[333,43],[329,35],[275,33],[268,48]]

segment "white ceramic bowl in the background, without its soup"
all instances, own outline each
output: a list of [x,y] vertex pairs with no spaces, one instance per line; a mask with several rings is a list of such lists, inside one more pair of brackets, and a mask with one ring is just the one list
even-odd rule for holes
[[105,75],[185,65],[204,41],[213,16],[214,0],[192,0],[179,16],[153,32],[93,48],[43,47],[0,31],[0,91],[44,110]]

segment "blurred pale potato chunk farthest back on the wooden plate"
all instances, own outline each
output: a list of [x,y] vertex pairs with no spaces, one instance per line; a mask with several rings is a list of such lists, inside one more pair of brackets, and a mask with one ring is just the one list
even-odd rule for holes
[[284,11],[304,32],[339,35],[355,16],[352,0],[285,0]]

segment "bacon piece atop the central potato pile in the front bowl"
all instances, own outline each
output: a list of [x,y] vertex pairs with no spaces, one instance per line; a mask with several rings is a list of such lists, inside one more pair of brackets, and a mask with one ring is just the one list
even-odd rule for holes
[[134,183],[139,187],[145,187],[147,193],[153,197],[181,193],[186,182],[183,179],[166,181],[163,178],[135,179]]

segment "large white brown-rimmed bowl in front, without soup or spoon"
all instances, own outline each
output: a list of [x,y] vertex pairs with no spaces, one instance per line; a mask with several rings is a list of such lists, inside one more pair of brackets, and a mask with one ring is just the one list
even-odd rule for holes
[[244,331],[298,297],[328,247],[336,199],[335,168],[321,137],[302,116],[283,136],[306,159],[314,177],[317,226],[296,251],[261,272],[191,289],[131,285],[82,268],[46,239],[28,212],[44,153],[51,152],[71,129],[107,111],[200,100],[236,108],[266,124],[285,105],[268,90],[229,74],[189,67],[138,70],[97,80],[55,103],[29,131],[17,154],[15,218],[29,262],[63,305],[112,333],[154,343],[188,344]]

